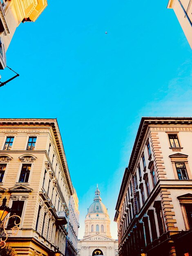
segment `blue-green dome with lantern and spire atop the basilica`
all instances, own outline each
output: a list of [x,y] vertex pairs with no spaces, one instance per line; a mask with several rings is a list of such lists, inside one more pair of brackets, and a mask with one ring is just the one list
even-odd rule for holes
[[97,189],[95,191],[94,202],[89,206],[87,214],[88,213],[107,213],[107,208],[101,202],[100,191],[98,189],[98,186],[97,186]]

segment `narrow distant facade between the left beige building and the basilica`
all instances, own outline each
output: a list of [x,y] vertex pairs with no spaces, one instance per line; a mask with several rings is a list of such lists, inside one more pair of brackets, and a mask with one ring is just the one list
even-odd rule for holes
[[66,256],[77,255],[78,244],[78,228],[79,228],[79,210],[78,210],[78,197],[74,189],[74,194],[71,195],[69,202],[69,216],[67,223],[67,246]]

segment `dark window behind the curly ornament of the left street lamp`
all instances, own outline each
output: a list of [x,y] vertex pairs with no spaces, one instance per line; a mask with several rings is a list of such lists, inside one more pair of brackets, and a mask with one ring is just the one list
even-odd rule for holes
[[[24,206],[24,202],[25,201],[13,201],[12,207],[11,207],[11,213],[10,216],[13,215],[18,215],[18,216],[22,216],[22,210],[23,210],[23,206]],[[11,229],[12,227],[15,226],[15,222],[16,224],[18,224],[20,222],[20,219],[15,217],[15,218],[10,218],[8,221],[8,225],[7,225],[7,229]]]

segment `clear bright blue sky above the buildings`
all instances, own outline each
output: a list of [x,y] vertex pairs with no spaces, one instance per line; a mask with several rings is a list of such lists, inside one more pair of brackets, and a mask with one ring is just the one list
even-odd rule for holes
[[7,51],[20,77],[0,88],[1,117],[58,119],[79,238],[97,183],[117,238],[114,209],[141,117],[192,115],[192,51],[167,3],[48,0]]

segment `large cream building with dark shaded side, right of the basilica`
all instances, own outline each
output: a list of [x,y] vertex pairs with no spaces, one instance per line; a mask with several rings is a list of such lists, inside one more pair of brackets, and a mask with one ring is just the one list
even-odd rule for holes
[[143,117],[116,204],[120,256],[192,255],[192,118]]

